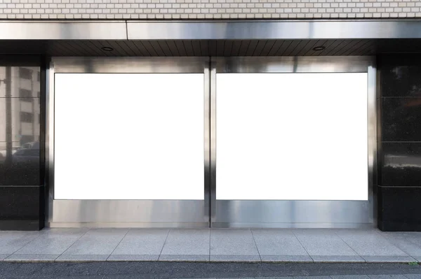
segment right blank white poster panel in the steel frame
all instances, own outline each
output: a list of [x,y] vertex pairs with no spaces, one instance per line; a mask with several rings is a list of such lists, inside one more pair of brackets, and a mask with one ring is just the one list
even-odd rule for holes
[[216,198],[367,200],[366,73],[219,73]]

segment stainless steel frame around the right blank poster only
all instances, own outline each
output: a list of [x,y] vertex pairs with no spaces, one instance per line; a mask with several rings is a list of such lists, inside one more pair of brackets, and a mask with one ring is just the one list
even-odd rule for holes
[[[368,201],[217,200],[216,73],[368,73]],[[212,227],[373,227],[376,173],[376,92],[373,57],[230,57],[213,59],[210,70]],[[338,182],[340,183],[340,182]]]

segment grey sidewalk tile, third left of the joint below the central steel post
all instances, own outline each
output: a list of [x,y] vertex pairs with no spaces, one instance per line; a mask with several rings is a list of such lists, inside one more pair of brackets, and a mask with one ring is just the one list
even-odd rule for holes
[[110,255],[128,229],[91,229],[63,255]]

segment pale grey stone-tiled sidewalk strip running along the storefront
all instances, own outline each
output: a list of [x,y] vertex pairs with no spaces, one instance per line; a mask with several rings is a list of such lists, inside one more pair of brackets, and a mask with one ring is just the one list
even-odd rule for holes
[[4,262],[421,262],[420,232],[377,229],[0,231]]

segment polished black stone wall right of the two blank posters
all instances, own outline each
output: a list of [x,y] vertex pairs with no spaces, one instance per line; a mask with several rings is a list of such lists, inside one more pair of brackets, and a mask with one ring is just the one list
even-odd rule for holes
[[421,231],[421,54],[381,55],[378,69],[378,227]]

